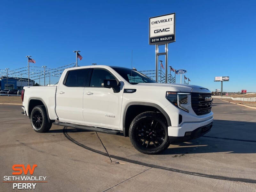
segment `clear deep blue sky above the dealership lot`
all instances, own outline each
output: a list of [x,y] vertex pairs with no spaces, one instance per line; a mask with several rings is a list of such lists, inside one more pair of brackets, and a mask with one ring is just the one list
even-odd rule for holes
[[255,1],[2,1],[0,69],[25,67],[26,55],[33,66],[60,67],[75,61],[74,50],[83,56],[80,66],[130,68],[133,50],[133,66],[153,70],[148,18],[176,12],[169,65],[212,91],[220,88],[214,76],[230,76],[223,91],[256,92],[255,7]]

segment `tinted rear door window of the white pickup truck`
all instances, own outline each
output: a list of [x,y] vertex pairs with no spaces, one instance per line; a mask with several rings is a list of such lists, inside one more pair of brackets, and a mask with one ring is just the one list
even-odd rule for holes
[[68,71],[65,85],[68,87],[85,87],[90,68]]

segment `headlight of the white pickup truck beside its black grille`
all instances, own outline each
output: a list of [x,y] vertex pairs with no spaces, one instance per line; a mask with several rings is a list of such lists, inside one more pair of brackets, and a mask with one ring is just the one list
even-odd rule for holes
[[166,99],[176,107],[188,112],[188,109],[182,107],[182,105],[188,104],[188,95],[190,95],[190,93],[167,91]]

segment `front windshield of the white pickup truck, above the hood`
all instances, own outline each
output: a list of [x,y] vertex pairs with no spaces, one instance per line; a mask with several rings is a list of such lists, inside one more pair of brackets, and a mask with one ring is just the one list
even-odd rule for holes
[[130,84],[138,84],[138,83],[156,83],[153,79],[145,76],[137,70],[129,69],[129,68],[113,68],[119,75],[121,75],[126,81]]

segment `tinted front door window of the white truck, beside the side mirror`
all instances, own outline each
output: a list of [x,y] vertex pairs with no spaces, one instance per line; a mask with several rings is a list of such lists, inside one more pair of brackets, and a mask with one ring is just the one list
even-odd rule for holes
[[92,71],[90,87],[102,87],[101,83],[103,83],[104,79],[116,80],[116,78],[107,70],[94,68]]

